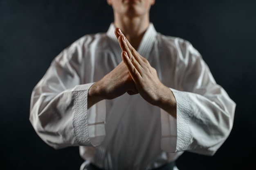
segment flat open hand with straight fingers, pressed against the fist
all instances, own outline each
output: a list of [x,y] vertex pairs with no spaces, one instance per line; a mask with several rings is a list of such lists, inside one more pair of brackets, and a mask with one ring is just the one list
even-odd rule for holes
[[119,28],[115,35],[122,49],[122,59],[139,94],[152,105],[159,106],[176,118],[176,100],[171,89],[159,80],[156,70],[125,38]]

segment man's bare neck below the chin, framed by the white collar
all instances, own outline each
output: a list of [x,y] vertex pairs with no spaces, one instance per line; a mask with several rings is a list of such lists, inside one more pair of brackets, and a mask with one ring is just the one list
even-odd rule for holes
[[143,38],[149,23],[148,15],[134,18],[129,18],[127,16],[115,16],[114,20],[115,26],[121,29],[121,31],[124,33],[126,38],[135,49],[139,47],[139,43],[141,42],[141,39]]

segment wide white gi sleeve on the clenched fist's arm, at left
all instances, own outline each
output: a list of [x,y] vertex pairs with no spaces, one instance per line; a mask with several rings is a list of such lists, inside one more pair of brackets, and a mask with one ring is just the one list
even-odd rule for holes
[[73,51],[65,49],[55,58],[31,94],[29,120],[40,138],[56,149],[99,145],[105,136],[105,101],[87,109],[93,83],[81,84],[85,69]]

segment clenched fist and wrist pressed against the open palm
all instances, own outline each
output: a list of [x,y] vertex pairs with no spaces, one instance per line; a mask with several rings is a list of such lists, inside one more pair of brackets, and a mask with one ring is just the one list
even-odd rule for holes
[[94,83],[88,92],[88,108],[103,99],[113,99],[124,93],[137,94],[128,69],[122,61],[109,74]]

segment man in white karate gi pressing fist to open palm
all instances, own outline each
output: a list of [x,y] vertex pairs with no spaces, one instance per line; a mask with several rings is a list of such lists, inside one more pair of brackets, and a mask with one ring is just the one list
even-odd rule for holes
[[157,33],[155,0],[107,0],[114,22],[52,62],[30,121],[54,148],[79,146],[81,169],[172,169],[184,152],[213,155],[236,104],[186,40]]

